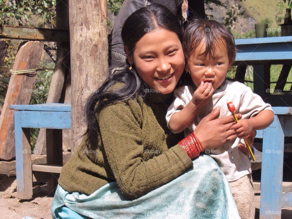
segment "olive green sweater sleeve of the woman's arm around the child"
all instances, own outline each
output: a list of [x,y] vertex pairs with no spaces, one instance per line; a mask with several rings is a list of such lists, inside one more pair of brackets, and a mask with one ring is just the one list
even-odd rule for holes
[[102,147],[121,192],[130,199],[175,179],[193,165],[177,144],[143,160],[142,110],[137,102],[116,102],[98,115]]

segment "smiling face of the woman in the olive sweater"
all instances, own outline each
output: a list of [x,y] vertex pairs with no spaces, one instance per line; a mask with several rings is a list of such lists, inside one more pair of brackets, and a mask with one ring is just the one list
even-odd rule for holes
[[163,28],[146,33],[127,57],[141,79],[154,90],[150,92],[162,94],[175,89],[185,66],[178,36]]

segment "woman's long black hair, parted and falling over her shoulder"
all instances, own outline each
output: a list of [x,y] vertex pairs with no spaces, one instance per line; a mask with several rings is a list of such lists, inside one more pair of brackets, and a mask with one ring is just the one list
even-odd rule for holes
[[[136,43],[146,33],[158,28],[165,28],[176,33],[182,42],[182,28],[178,18],[165,6],[152,4],[132,13],[126,19],[121,32],[123,43],[127,46],[129,54],[133,52]],[[86,101],[87,130],[85,134],[96,132],[98,128],[96,113],[105,105],[127,100],[131,97],[144,97],[146,95],[145,89],[148,88],[148,85],[137,75],[134,66],[130,70],[129,63],[126,61],[123,66],[118,66],[114,69],[116,70],[106,79],[103,85],[96,92],[93,92]],[[122,85],[117,89],[109,89],[119,82]],[[103,102],[102,104],[100,104],[101,101]]]

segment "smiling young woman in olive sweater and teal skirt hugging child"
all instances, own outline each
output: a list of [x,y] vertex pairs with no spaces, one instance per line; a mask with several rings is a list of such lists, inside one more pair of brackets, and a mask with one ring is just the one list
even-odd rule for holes
[[167,128],[186,74],[176,16],[161,5],[141,8],[122,39],[127,64],[87,100],[88,129],[62,168],[53,218],[239,218],[223,172],[199,156],[235,138],[233,117],[214,120],[213,111],[186,138]]

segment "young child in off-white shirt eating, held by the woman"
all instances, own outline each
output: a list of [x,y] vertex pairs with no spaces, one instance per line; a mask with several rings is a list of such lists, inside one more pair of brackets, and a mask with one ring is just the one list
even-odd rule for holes
[[241,218],[254,218],[251,165],[238,145],[244,144],[243,138],[252,131],[273,122],[272,108],[244,84],[225,80],[235,60],[236,48],[231,32],[221,23],[202,19],[190,23],[184,32],[183,50],[193,85],[175,90],[175,100],[166,115],[168,126],[174,133],[184,130],[187,136],[214,108],[220,108],[220,117],[231,115],[227,103],[234,103],[242,119],[230,128],[238,138],[205,152],[225,173]]

